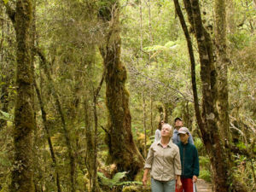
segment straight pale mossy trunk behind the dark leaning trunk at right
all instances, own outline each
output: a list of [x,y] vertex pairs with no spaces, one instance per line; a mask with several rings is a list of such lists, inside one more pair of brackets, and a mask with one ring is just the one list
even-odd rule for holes
[[225,0],[215,0],[215,42],[216,42],[216,71],[218,73],[217,109],[220,135],[225,141],[230,141],[229,93],[228,93],[228,64],[226,52],[226,6]]

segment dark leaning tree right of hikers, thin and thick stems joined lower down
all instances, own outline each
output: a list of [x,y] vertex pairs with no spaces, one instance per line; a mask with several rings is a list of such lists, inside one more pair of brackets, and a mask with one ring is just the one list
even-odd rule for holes
[[[198,0],[183,0],[186,11],[189,16],[189,22],[192,29],[195,30],[195,38],[197,40],[200,62],[201,62],[201,81],[202,81],[202,113],[198,105],[198,98],[195,86],[195,58],[191,46],[191,39],[182,11],[178,1],[174,0],[177,13],[183,26],[183,31],[187,38],[189,47],[189,56],[191,61],[192,85],[195,99],[195,113],[200,126],[203,142],[206,146],[212,164],[212,175],[214,180],[214,191],[227,192],[233,189],[230,186],[232,177],[232,167],[229,165],[228,155],[224,149],[222,137],[219,135],[217,124],[218,112],[216,110],[215,101],[217,98],[216,89],[216,72],[212,60],[212,42],[210,35],[206,32],[201,22],[201,12]],[[192,67],[193,66],[193,67]],[[227,177],[228,176],[228,177]],[[236,183],[234,183],[236,185]],[[242,187],[236,188],[236,191],[245,191]]]

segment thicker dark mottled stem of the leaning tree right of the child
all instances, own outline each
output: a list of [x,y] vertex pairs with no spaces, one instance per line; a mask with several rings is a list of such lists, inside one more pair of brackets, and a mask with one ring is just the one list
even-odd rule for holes
[[212,163],[212,173],[215,191],[229,191],[227,175],[230,175],[228,159],[225,154],[222,138],[219,135],[214,108],[216,101],[216,71],[212,60],[212,42],[201,22],[201,12],[197,0],[191,1],[194,17],[195,37],[200,54],[201,81],[202,81],[202,120],[205,126],[201,133]]

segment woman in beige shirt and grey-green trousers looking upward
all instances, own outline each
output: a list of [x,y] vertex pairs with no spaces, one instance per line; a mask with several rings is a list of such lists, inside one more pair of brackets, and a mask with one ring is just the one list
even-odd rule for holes
[[177,189],[182,185],[179,149],[172,143],[171,138],[172,126],[164,124],[160,141],[154,142],[148,150],[143,185],[146,185],[150,171],[152,192],[175,192],[175,184]]

